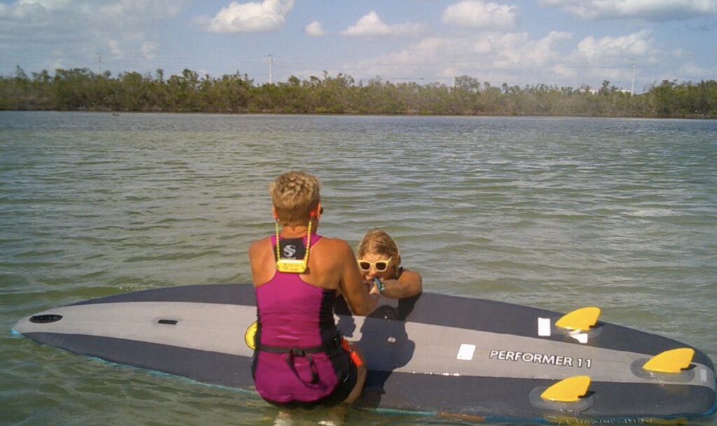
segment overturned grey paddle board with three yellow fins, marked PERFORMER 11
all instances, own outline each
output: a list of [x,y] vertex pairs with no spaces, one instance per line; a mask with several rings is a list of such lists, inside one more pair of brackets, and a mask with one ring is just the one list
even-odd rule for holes
[[[257,312],[249,284],[179,286],[82,301],[20,320],[42,344],[209,384],[252,389]],[[471,420],[684,422],[715,411],[703,352],[600,321],[498,301],[423,293],[381,298],[368,317],[343,299],[338,328],[369,375],[359,407]]]

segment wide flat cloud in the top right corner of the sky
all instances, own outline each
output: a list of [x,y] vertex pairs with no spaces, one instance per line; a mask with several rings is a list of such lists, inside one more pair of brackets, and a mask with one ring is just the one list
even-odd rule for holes
[[541,0],[583,19],[672,21],[717,14],[714,0]]

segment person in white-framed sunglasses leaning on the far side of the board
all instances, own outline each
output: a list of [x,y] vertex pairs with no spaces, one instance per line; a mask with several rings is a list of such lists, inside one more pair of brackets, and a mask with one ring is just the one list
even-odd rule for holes
[[374,281],[386,297],[402,299],[423,291],[421,274],[401,266],[396,242],[379,228],[369,229],[356,248],[356,263],[366,281]]

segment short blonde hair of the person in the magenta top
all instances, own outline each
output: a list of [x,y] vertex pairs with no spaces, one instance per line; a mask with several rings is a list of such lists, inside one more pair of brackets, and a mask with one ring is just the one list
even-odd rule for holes
[[318,178],[305,172],[291,171],[276,178],[269,186],[269,193],[282,225],[308,222],[321,200],[319,189]]

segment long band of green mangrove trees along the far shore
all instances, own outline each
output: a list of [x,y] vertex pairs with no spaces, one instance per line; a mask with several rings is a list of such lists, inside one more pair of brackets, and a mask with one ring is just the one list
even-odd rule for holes
[[166,77],[87,68],[44,70],[28,76],[20,67],[0,77],[0,110],[230,112],[298,114],[554,115],[592,117],[717,117],[715,80],[664,80],[645,93],[614,87],[494,86],[470,76],[439,83],[394,83],[380,77],[357,82],[331,76],[255,84],[246,74],[215,78],[184,69]]

